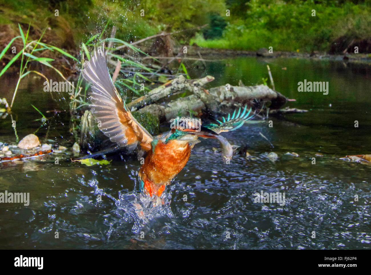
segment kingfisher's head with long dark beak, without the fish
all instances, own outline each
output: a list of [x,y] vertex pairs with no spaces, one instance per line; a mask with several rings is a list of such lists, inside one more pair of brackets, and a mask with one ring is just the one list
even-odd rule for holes
[[171,135],[168,140],[197,139],[198,137],[217,138],[218,134],[202,126],[200,118],[177,117],[170,120]]

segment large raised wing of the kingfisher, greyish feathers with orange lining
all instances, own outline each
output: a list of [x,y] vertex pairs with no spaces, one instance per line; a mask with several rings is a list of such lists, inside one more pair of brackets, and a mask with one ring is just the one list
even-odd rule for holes
[[91,59],[85,62],[82,75],[92,84],[90,94],[92,112],[102,132],[120,147],[134,149],[138,143],[145,151],[150,150],[153,137],[132,116],[116,90],[107,68],[107,52],[97,47]]

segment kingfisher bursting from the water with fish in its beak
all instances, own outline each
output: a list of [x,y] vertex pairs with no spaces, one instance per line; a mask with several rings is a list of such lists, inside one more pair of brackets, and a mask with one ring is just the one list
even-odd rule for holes
[[251,108],[247,111],[234,110],[223,121],[216,124],[202,125],[200,120],[191,117],[174,118],[170,131],[152,137],[138,123],[120,97],[107,67],[107,52],[102,46],[96,47],[89,61],[85,61],[82,71],[85,80],[91,83],[91,110],[96,121],[101,123],[100,130],[119,147],[134,150],[144,157],[139,170],[140,190],[150,197],[161,196],[166,185],[187,164],[191,150],[200,138],[217,139],[223,148],[223,159],[229,164],[236,146],[220,135],[221,132],[240,128],[251,119]]

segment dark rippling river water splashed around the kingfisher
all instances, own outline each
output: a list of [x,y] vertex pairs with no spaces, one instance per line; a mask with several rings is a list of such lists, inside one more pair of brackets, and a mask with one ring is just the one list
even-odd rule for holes
[[[216,142],[197,144],[167,187],[164,204],[149,209],[151,203],[135,192],[136,160],[88,167],[70,162],[67,149],[1,163],[0,192],[29,192],[30,203],[0,204],[0,248],[369,249],[371,164],[340,158],[371,153],[371,65],[239,57],[188,67],[191,77],[214,76],[214,87],[239,80],[261,84],[266,64],[276,90],[296,99],[287,105],[308,113],[272,117],[273,127],[245,124],[224,133],[243,148],[229,165]],[[328,81],[328,94],[298,92],[305,79]],[[16,80],[4,81],[1,97],[10,99]],[[42,80],[30,79],[16,97],[13,119],[20,138],[41,125],[31,104],[44,114],[68,105],[43,94],[42,87]],[[42,143],[73,144],[65,113],[37,135]],[[0,141],[15,142],[10,116],[0,120]],[[278,158],[268,158],[270,152]],[[255,202],[256,192],[280,192],[285,203]]]

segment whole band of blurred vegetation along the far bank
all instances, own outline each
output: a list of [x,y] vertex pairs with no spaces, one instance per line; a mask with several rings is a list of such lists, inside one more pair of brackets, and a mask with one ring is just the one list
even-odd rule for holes
[[107,24],[127,42],[209,24],[174,37],[210,48],[330,53],[358,41],[371,51],[371,0],[1,0],[0,47],[19,35],[17,23],[30,24],[35,39],[46,30],[43,42],[76,52]]

